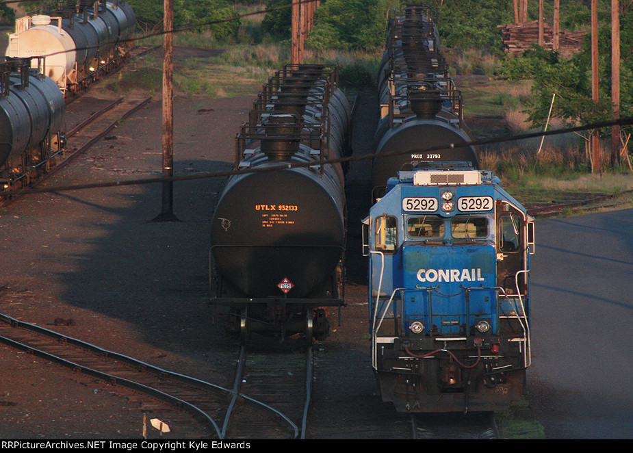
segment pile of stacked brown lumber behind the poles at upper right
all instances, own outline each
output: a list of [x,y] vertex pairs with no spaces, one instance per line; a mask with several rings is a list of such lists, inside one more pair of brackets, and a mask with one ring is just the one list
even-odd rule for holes
[[[521,53],[530,49],[532,44],[539,44],[539,21],[498,25],[497,28],[503,36],[506,52]],[[585,31],[559,31],[558,52],[563,56],[579,53],[585,35]],[[554,31],[546,23],[543,24],[543,48],[554,49]]]

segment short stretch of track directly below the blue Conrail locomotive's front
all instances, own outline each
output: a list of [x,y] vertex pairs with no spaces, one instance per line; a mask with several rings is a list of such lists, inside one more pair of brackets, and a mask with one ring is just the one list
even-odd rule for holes
[[500,439],[493,412],[411,414],[413,439]]

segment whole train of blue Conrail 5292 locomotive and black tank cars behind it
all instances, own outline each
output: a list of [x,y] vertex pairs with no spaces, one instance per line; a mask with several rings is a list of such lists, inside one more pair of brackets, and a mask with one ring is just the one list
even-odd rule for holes
[[434,29],[415,5],[391,20],[363,221],[372,367],[397,411],[494,411],[521,398],[531,362],[534,221],[480,170],[461,99],[433,73]]

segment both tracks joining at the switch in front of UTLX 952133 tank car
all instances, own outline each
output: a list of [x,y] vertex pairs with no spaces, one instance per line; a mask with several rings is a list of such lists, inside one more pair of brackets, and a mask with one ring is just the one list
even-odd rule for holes
[[179,439],[305,436],[311,348],[304,351],[305,361],[297,352],[247,355],[242,348],[235,385],[227,389],[2,313],[0,342],[101,380],[139,411],[165,422]]

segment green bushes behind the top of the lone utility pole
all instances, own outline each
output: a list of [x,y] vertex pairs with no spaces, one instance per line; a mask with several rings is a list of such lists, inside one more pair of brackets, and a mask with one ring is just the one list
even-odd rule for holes
[[[150,29],[161,25],[163,0],[127,1],[140,25]],[[240,20],[227,0],[174,0],[174,27],[178,29],[196,25],[201,25],[198,30],[208,27],[214,38],[226,40],[240,27]]]

